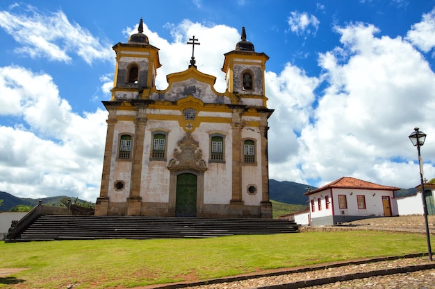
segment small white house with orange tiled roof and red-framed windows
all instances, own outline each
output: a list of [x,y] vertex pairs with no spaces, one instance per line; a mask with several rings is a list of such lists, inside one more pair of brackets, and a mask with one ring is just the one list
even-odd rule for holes
[[354,177],[341,177],[319,189],[308,191],[312,226],[337,225],[363,218],[397,216],[392,207],[395,186],[382,186]]

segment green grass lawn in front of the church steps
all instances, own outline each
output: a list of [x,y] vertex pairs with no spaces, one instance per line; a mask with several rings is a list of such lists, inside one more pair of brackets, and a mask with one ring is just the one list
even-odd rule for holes
[[129,288],[426,249],[423,235],[382,231],[2,242],[0,268],[28,269],[0,278],[0,288]]

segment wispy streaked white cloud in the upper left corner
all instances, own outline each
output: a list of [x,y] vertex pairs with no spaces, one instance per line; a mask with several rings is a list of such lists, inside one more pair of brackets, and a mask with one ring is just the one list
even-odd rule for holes
[[[17,6],[11,9],[15,8]],[[33,13],[31,16],[29,10]],[[33,6],[26,6],[22,13],[0,11],[0,27],[22,45],[15,52],[31,58],[69,63],[71,54],[76,53],[88,64],[113,59],[110,44],[101,43],[88,30],[71,23],[62,11],[42,15]]]

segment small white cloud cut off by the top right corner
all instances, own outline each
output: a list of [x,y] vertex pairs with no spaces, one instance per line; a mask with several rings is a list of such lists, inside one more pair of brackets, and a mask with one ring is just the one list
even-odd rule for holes
[[424,52],[435,47],[435,8],[423,14],[422,21],[414,24],[407,33],[407,40]]

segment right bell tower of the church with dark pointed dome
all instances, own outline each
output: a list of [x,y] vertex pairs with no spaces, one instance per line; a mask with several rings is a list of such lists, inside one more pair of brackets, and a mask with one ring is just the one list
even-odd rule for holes
[[225,53],[224,67],[227,90],[231,94],[261,95],[265,94],[265,62],[268,55],[256,53],[254,44],[246,40],[245,27],[242,28],[242,40],[236,49]]

